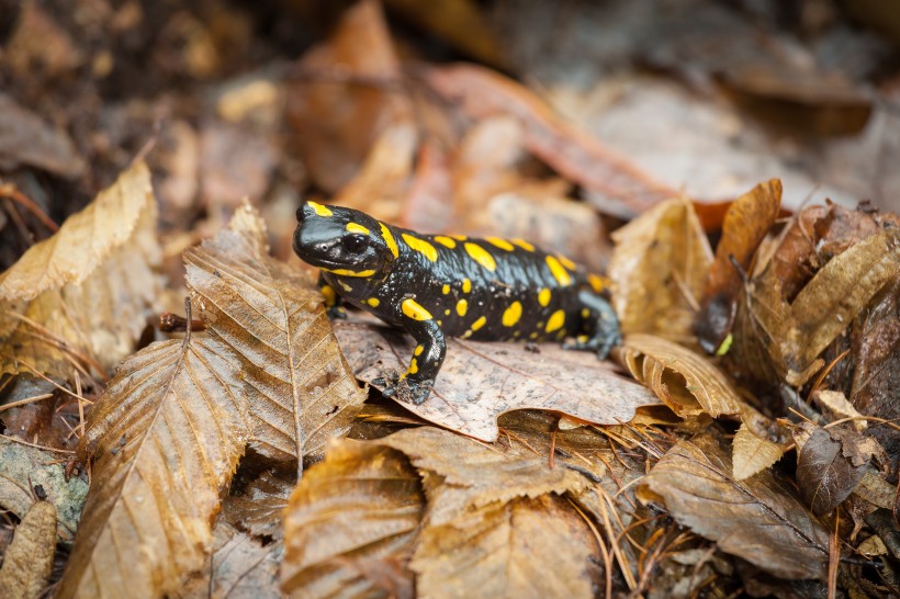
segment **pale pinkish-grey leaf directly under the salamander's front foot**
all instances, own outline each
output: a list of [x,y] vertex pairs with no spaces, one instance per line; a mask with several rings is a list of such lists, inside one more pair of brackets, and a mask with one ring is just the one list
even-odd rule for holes
[[[396,330],[360,324],[335,326],[347,360],[368,383],[406,369],[415,343]],[[417,416],[463,434],[494,441],[496,418],[514,409],[550,409],[595,423],[617,425],[639,406],[656,405],[653,394],[620,376],[589,352],[540,346],[447,340],[447,359],[430,398],[403,404]]]

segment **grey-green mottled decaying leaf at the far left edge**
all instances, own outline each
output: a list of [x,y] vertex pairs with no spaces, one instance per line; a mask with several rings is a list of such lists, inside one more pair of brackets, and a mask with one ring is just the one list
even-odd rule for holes
[[71,541],[88,494],[86,476],[66,477],[59,454],[0,437],[0,508],[19,518],[34,505],[33,489],[41,486],[57,513],[60,541]]

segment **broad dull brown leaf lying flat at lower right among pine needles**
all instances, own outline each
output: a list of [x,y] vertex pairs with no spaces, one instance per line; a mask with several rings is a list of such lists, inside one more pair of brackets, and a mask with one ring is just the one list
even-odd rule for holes
[[781,578],[824,578],[829,532],[769,471],[738,482],[711,438],[678,441],[641,483],[675,520]]

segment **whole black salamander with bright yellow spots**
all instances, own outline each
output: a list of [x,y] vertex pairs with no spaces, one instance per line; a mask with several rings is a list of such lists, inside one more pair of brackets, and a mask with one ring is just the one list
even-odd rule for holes
[[[415,404],[428,397],[447,351],[446,337],[562,340],[606,358],[621,340],[606,280],[521,239],[420,235],[359,211],[306,202],[293,247],[322,270],[330,316],[341,301],[408,332],[409,369],[385,383]],[[401,393],[402,396],[406,392]]]

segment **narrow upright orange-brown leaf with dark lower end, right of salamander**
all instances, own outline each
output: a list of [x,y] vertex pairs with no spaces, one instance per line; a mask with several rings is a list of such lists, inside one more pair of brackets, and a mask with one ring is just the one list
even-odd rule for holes
[[768,233],[781,205],[781,181],[760,183],[728,208],[716,260],[702,294],[702,308],[695,329],[701,347],[715,353],[734,323],[735,303],[743,292],[738,268],[747,272],[760,242]]

